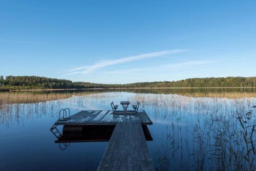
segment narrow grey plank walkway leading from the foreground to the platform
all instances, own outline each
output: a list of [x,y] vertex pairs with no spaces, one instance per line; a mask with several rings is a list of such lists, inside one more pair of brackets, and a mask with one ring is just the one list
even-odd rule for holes
[[155,170],[140,120],[116,124],[97,170]]

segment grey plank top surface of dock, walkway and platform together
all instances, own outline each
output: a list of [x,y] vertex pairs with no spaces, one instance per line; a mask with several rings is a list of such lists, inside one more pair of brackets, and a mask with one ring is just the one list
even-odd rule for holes
[[112,111],[81,111],[58,125],[115,125],[97,170],[155,170],[142,124],[153,124],[145,111],[112,114]]

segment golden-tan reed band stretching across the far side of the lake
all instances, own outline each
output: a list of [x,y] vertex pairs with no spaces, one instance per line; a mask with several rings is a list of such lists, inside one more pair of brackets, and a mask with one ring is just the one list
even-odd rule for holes
[[[127,90],[131,92],[132,90]],[[159,90],[161,91],[161,90]],[[114,92],[111,92],[114,93]],[[119,94],[120,92],[115,92],[114,94]],[[170,95],[180,95],[185,97],[209,97],[209,98],[229,98],[229,99],[244,99],[244,98],[254,98],[256,97],[256,92],[186,92],[186,91],[175,91],[169,92]],[[58,100],[70,98],[72,96],[85,96],[93,95],[94,98],[108,94],[102,93],[100,91],[36,91],[36,92],[1,92],[0,93],[0,106],[3,104],[13,104],[13,103],[36,103],[44,102],[50,100]],[[161,99],[160,99],[161,100]],[[164,102],[164,101],[163,101]]]

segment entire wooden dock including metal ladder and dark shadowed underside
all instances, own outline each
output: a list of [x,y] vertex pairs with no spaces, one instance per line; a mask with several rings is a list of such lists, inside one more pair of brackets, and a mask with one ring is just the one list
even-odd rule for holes
[[[155,170],[146,140],[152,140],[144,110],[137,114],[112,111],[81,111],[57,120],[51,131],[55,143],[109,141],[98,170]],[[62,134],[57,125],[63,125]],[[67,147],[68,145],[66,145]]]

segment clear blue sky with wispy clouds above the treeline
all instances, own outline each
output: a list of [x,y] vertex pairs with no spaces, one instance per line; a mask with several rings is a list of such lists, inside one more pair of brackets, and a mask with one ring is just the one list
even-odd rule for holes
[[256,1],[0,2],[0,75],[255,76]]

